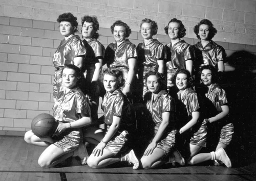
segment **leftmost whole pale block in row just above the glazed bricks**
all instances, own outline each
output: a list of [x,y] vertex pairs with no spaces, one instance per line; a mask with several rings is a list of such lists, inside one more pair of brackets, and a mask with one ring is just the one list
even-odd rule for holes
[[32,19],[33,9],[22,6],[5,5],[5,16]]

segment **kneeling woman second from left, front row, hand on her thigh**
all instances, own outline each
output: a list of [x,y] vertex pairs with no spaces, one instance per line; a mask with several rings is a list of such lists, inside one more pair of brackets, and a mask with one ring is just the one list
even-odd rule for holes
[[116,162],[133,163],[133,169],[139,167],[139,161],[129,145],[135,132],[131,119],[129,101],[119,89],[124,84],[122,71],[117,68],[103,70],[103,84],[106,90],[102,102],[106,130],[89,127],[84,138],[97,146],[88,159],[92,168],[102,168]]

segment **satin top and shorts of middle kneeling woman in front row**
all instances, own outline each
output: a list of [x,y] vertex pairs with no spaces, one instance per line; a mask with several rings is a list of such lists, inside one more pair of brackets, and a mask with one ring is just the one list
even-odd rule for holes
[[[169,125],[163,133],[162,139],[157,143],[157,147],[160,149],[164,148],[165,154],[168,154],[175,145],[175,136],[177,134],[177,128],[175,126],[176,117],[174,115],[176,110],[175,101],[165,90],[160,91],[155,100],[151,94],[152,93],[148,93],[144,101],[155,123],[154,136],[157,134],[159,126],[163,121],[163,113],[170,112]],[[167,145],[167,147],[165,147],[165,145]]]

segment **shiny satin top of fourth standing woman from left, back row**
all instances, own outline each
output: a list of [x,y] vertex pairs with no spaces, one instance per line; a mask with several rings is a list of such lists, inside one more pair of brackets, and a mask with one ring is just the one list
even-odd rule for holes
[[158,70],[158,60],[166,60],[167,53],[162,43],[153,39],[145,45],[145,42],[137,46],[138,64],[147,68]]

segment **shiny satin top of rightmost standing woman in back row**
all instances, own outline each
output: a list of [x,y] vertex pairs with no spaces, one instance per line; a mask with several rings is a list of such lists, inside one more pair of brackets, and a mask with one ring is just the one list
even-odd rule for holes
[[193,45],[193,47],[196,53],[196,63],[199,66],[202,64],[212,65],[218,69],[218,62],[227,62],[225,49],[214,41],[210,41],[205,47],[203,47],[201,41],[199,41],[197,44]]

